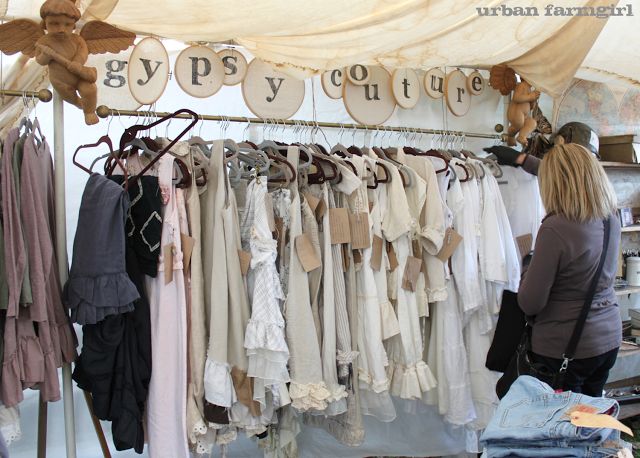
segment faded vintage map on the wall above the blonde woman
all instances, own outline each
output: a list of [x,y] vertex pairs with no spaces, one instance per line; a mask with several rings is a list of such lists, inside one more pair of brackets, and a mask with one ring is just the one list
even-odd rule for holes
[[580,121],[601,136],[640,134],[640,90],[579,80],[560,99],[555,119],[554,130]]

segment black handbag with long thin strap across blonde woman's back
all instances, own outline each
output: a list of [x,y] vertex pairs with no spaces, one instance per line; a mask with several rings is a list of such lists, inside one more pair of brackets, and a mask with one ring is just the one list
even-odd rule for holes
[[520,338],[518,348],[515,354],[511,357],[511,361],[504,374],[498,380],[496,384],[496,394],[499,399],[502,399],[509,391],[509,388],[513,382],[521,375],[530,375],[547,383],[553,389],[562,389],[564,386],[564,380],[567,373],[569,363],[573,360],[584,324],[587,321],[589,315],[589,309],[591,309],[591,303],[593,302],[593,296],[595,295],[596,288],[598,286],[598,280],[602,274],[604,267],[604,261],[607,257],[607,250],[609,247],[609,234],[611,232],[611,222],[609,219],[603,221],[604,224],[604,237],[602,242],[602,254],[600,255],[600,262],[598,263],[598,269],[591,281],[587,298],[584,301],[584,305],[580,310],[580,315],[576,321],[576,325],[573,328],[573,333],[567,344],[567,349],[562,355],[562,365],[558,371],[552,370],[545,364],[537,363],[533,361],[531,357],[531,325],[527,323],[524,328],[524,332]]

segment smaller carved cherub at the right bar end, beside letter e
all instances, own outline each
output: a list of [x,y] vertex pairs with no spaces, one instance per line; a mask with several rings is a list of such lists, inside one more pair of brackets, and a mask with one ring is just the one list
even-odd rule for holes
[[536,120],[531,117],[531,110],[540,97],[540,91],[532,91],[531,85],[525,80],[518,83],[515,72],[504,65],[497,65],[491,69],[491,86],[499,90],[502,95],[513,91],[507,110],[509,120],[507,144],[515,146],[517,140],[526,147],[527,138],[537,126]]

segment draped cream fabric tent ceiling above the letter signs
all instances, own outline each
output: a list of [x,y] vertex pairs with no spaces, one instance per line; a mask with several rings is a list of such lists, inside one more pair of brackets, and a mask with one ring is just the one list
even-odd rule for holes
[[[0,16],[38,17],[42,0],[0,0]],[[640,85],[637,17],[547,16],[545,6],[617,0],[81,0],[84,19],[186,42],[234,40],[286,72],[308,76],[363,63],[428,69],[508,62],[558,96],[576,75]],[[620,0],[621,7],[638,0]],[[537,8],[480,16],[477,8]],[[502,13],[505,10],[500,10]],[[529,10],[531,11],[531,10]],[[604,28],[604,30],[603,30]]]

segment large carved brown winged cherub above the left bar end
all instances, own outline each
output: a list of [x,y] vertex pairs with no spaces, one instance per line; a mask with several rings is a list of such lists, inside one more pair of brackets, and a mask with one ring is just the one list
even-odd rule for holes
[[133,44],[135,34],[105,22],[87,22],[75,34],[80,10],[73,0],[46,0],[42,22],[16,19],[0,25],[0,51],[22,52],[49,67],[49,79],[62,98],[82,109],[87,124],[96,124],[97,70],[85,66],[89,54],[117,53]]

